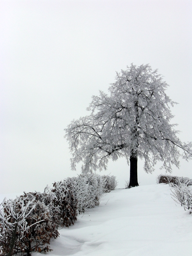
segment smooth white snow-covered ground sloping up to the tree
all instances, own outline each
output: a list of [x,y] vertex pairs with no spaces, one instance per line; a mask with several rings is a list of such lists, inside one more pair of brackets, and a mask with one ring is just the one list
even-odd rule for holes
[[104,194],[98,207],[59,230],[47,255],[191,256],[192,215],[170,193],[156,184]]

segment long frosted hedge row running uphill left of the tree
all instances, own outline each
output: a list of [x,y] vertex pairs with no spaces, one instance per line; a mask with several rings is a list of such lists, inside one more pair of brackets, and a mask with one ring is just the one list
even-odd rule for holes
[[0,255],[30,255],[51,251],[51,238],[59,236],[59,226],[70,226],[77,214],[99,205],[102,193],[117,185],[116,177],[86,174],[67,178],[46,187],[44,193],[31,192],[4,200],[0,209]]

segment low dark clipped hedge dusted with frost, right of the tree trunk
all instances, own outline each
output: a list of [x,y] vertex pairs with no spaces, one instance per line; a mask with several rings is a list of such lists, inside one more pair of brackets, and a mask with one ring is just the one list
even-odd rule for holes
[[171,176],[171,175],[162,175],[160,174],[157,176],[157,183],[166,183],[172,186],[172,184],[186,184],[187,186],[192,185],[192,180],[187,177],[178,177],[178,176]]

